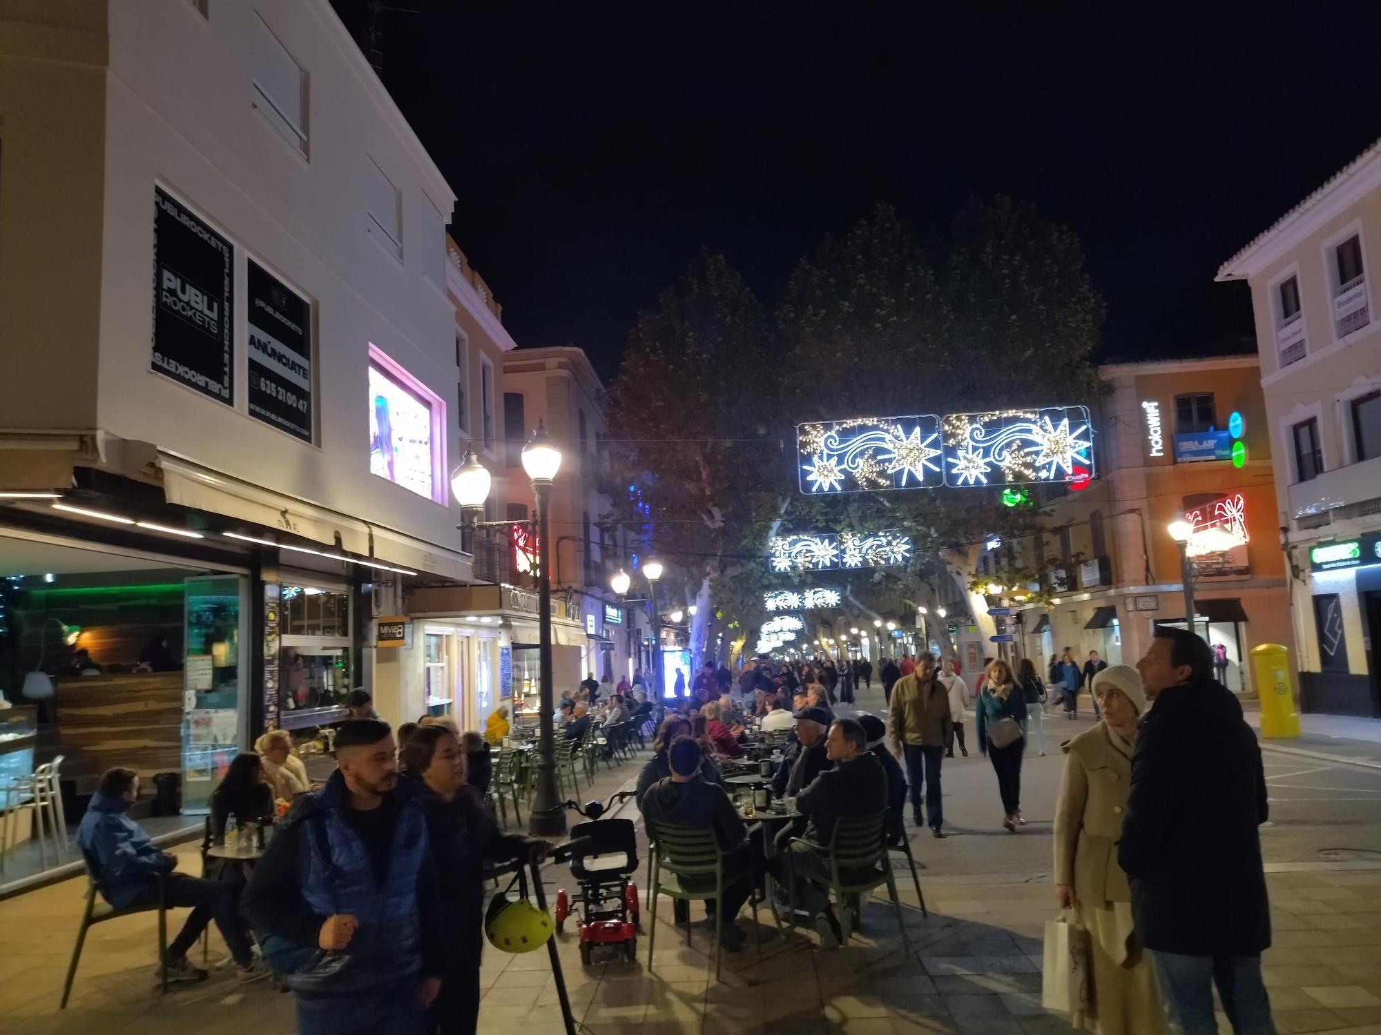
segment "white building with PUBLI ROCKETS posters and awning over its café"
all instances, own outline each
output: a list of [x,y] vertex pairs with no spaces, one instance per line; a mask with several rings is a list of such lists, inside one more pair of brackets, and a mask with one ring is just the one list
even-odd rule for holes
[[[355,686],[416,718],[409,646],[377,646],[376,620],[472,575],[447,484],[454,193],[326,0],[0,3],[0,28],[8,570],[70,580],[64,606],[93,615],[115,570],[222,580],[148,627],[185,658],[157,689],[184,747],[220,748],[189,782],[264,729],[341,718]],[[193,613],[220,617],[200,636]]]

